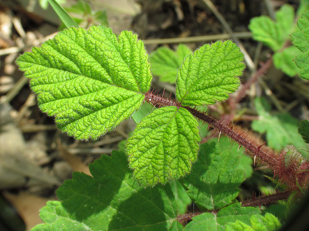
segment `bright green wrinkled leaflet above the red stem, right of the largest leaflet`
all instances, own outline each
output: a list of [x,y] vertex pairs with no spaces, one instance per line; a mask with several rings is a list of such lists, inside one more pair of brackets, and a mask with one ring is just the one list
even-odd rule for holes
[[189,55],[178,70],[176,97],[183,106],[214,104],[239,87],[245,65],[232,41],[205,44]]

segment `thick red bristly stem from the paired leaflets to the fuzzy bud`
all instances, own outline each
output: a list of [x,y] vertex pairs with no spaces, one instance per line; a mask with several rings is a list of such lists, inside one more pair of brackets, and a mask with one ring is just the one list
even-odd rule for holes
[[260,158],[263,162],[269,165],[269,167],[276,169],[279,165],[279,158],[274,155],[270,155],[266,153],[264,150],[257,147],[255,144],[247,140],[245,137],[241,136],[237,132],[235,132],[232,128],[228,127],[226,124],[223,124],[209,115],[205,115],[200,111],[197,111],[191,107],[184,107],[187,109],[192,115],[195,117],[205,121],[211,127],[217,129],[219,132],[225,133],[227,136],[231,137],[233,140],[238,142],[241,146],[243,146],[247,151],[251,152],[253,156]]

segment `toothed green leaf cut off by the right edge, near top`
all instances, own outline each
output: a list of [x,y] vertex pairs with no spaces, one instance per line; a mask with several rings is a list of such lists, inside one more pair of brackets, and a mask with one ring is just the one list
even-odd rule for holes
[[303,53],[296,57],[295,63],[301,69],[299,75],[309,80],[309,11],[298,18],[297,26],[299,31],[292,34],[293,44]]

